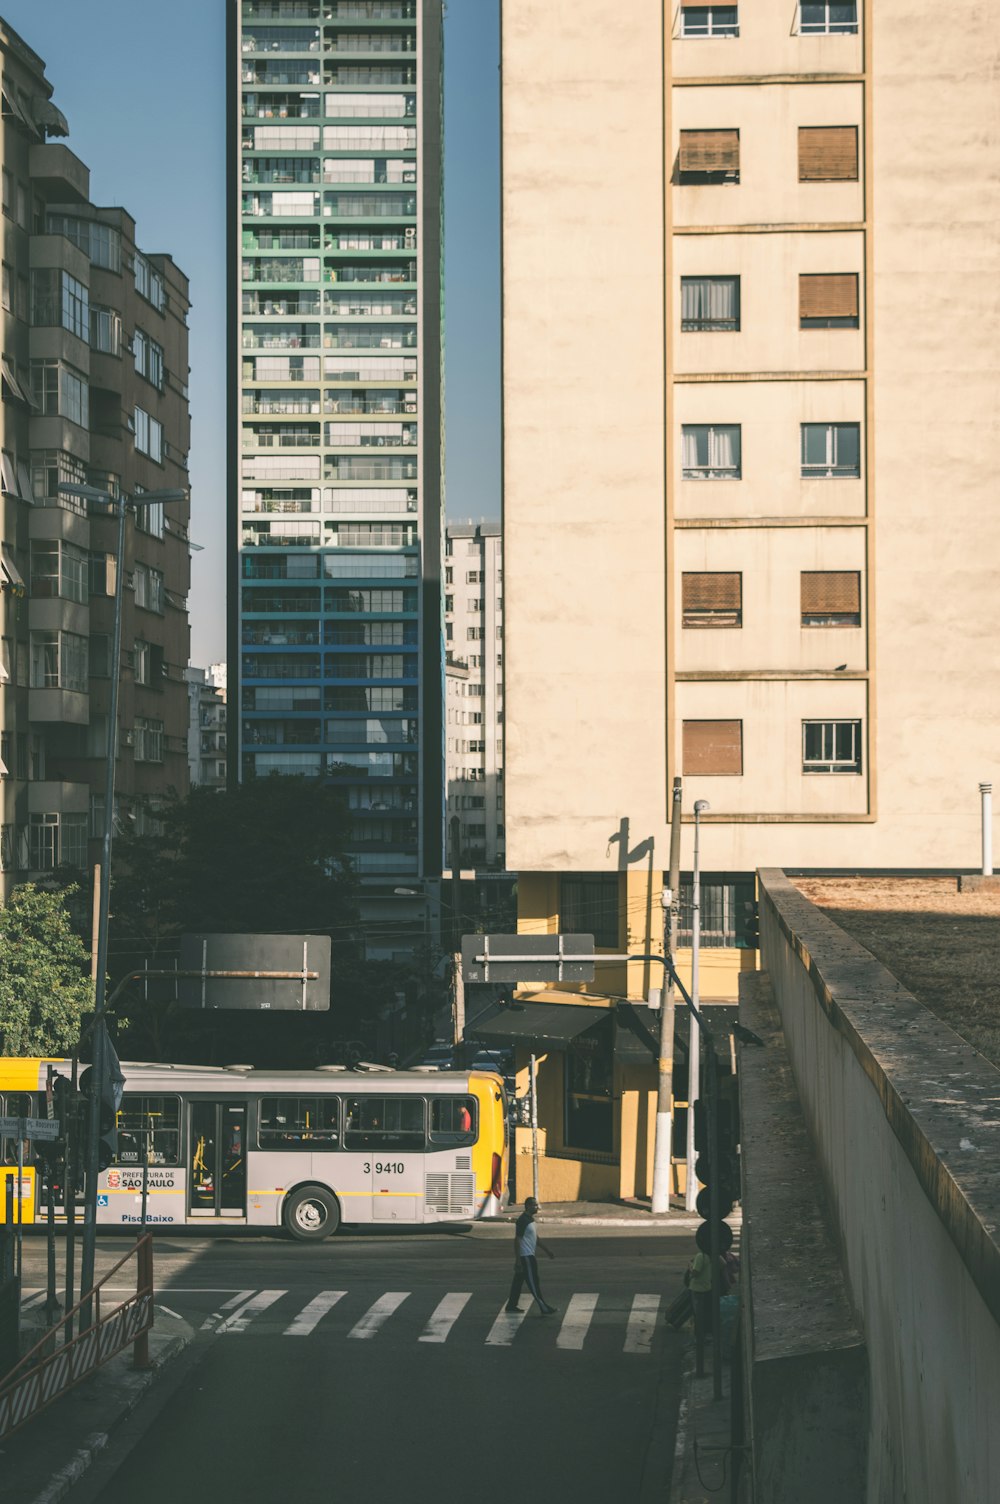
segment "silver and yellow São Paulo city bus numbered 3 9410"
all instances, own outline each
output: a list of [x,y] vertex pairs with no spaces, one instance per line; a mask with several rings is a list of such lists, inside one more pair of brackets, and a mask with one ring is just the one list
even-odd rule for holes
[[[0,1059],[0,1116],[45,1116],[66,1060]],[[507,1101],[489,1071],[122,1062],[114,1161],[99,1226],[281,1227],[301,1241],[344,1224],[414,1227],[495,1217],[507,1199]],[[3,1173],[17,1143],[0,1140]],[[0,1197],[0,1218],[3,1199]],[[47,1217],[33,1146],[21,1220]],[[65,1223],[56,1193],[54,1217]]]

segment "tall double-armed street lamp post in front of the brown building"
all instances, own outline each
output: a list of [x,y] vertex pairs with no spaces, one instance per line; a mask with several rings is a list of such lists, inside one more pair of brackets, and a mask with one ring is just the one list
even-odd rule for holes
[[[104,836],[101,842],[101,877],[98,904],[98,955],[93,984],[93,1071],[92,1090],[87,1104],[87,1199],[83,1212],[83,1245],[80,1254],[80,1295],[84,1298],[93,1289],[93,1263],[96,1250],[98,1220],[98,1158],[101,1149],[101,1090],[108,1071],[108,1035],[104,1023],[108,969],[108,913],[111,899],[111,836],[114,830],[114,752],[117,741],[119,675],[122,669],[122,600],[125,591],[125,513],[132,507],[155,507],[173,501],[186,501],[186,490],[144,490],[138,496],[119,493],[111,496],[96,486],[72,486],[62,483],[59,490],[80,496],[117,514],[117,543],[114,552],[114,624],[111,627],[111,696],[108,702],[108,746],[104,770]],[[89,1307],[81,1313],[81,1327],[89,1325]]]

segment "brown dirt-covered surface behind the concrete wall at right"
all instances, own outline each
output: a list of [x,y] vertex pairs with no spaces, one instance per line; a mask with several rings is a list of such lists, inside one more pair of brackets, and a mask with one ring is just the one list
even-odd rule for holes
[[795,887],[1000,1068],[1000,890],[949,877],[802,877]]

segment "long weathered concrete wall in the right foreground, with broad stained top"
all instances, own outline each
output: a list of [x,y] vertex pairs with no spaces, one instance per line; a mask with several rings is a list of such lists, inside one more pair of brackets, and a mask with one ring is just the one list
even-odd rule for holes
[[761,949],[869,1357],[868,1504],[1000,1489],[1000,1072],[779,871]]

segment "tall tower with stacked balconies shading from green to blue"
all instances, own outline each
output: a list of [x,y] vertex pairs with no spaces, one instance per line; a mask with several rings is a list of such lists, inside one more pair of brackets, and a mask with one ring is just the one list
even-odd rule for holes
[[230,18],[230,776],[341,790],[377,899],[441,871],[442,8]]

